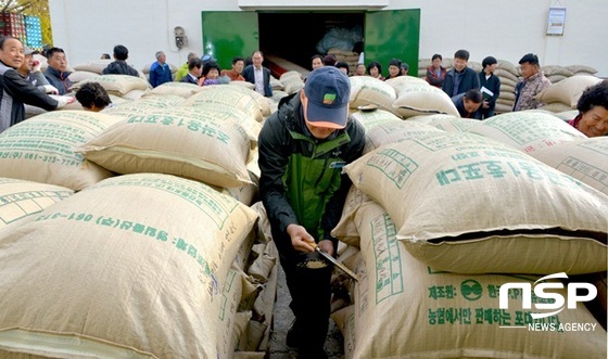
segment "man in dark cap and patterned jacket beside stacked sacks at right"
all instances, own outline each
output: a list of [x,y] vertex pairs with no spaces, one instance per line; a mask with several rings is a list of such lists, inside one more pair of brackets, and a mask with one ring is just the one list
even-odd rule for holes
[[519,61],[523,80],[515,87],[514,111],[540,108],[544,103],[536,101],[536,94],[549,87],[550,80],[541,72],[539,56],[527,53]]

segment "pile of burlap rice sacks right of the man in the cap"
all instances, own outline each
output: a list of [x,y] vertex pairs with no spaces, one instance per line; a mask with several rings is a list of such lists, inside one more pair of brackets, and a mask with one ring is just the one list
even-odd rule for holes
[[[333,279],[346,358],[606,357],[607,138],[537,111],[353,116],[366,146],[332,231],[359,278]],[[503,285],[560,272],[552,293],[595,284],[593,313],[517,289],[501,307]]]

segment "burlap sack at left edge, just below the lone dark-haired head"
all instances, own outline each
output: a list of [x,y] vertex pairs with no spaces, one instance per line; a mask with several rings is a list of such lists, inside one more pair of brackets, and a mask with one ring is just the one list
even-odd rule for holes
[[31,117],[0,133],[0,177],[83,190],[113,176],[76,148],[119,117],[87,111],[55,111]]

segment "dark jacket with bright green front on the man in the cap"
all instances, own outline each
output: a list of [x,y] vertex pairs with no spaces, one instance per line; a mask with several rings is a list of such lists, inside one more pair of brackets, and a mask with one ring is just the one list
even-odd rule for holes
[[283,99],[258,139],[259,195],[274,229],[284,233],[297,223],[317,242],[332,240],[335,245],[330,231],[352,184],[342,167],[360,157],[364,145],[364,128],[352,118],[330,138],[315,139],[305,125],[299,93]]

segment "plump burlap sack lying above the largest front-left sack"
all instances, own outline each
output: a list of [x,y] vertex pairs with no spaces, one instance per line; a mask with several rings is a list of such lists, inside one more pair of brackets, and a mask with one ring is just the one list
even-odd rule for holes
[[255,140],[227,115],[176,107],[128,116],[79,152],[118,174],[170,174],[229,188],[251,183],[245,164]]

